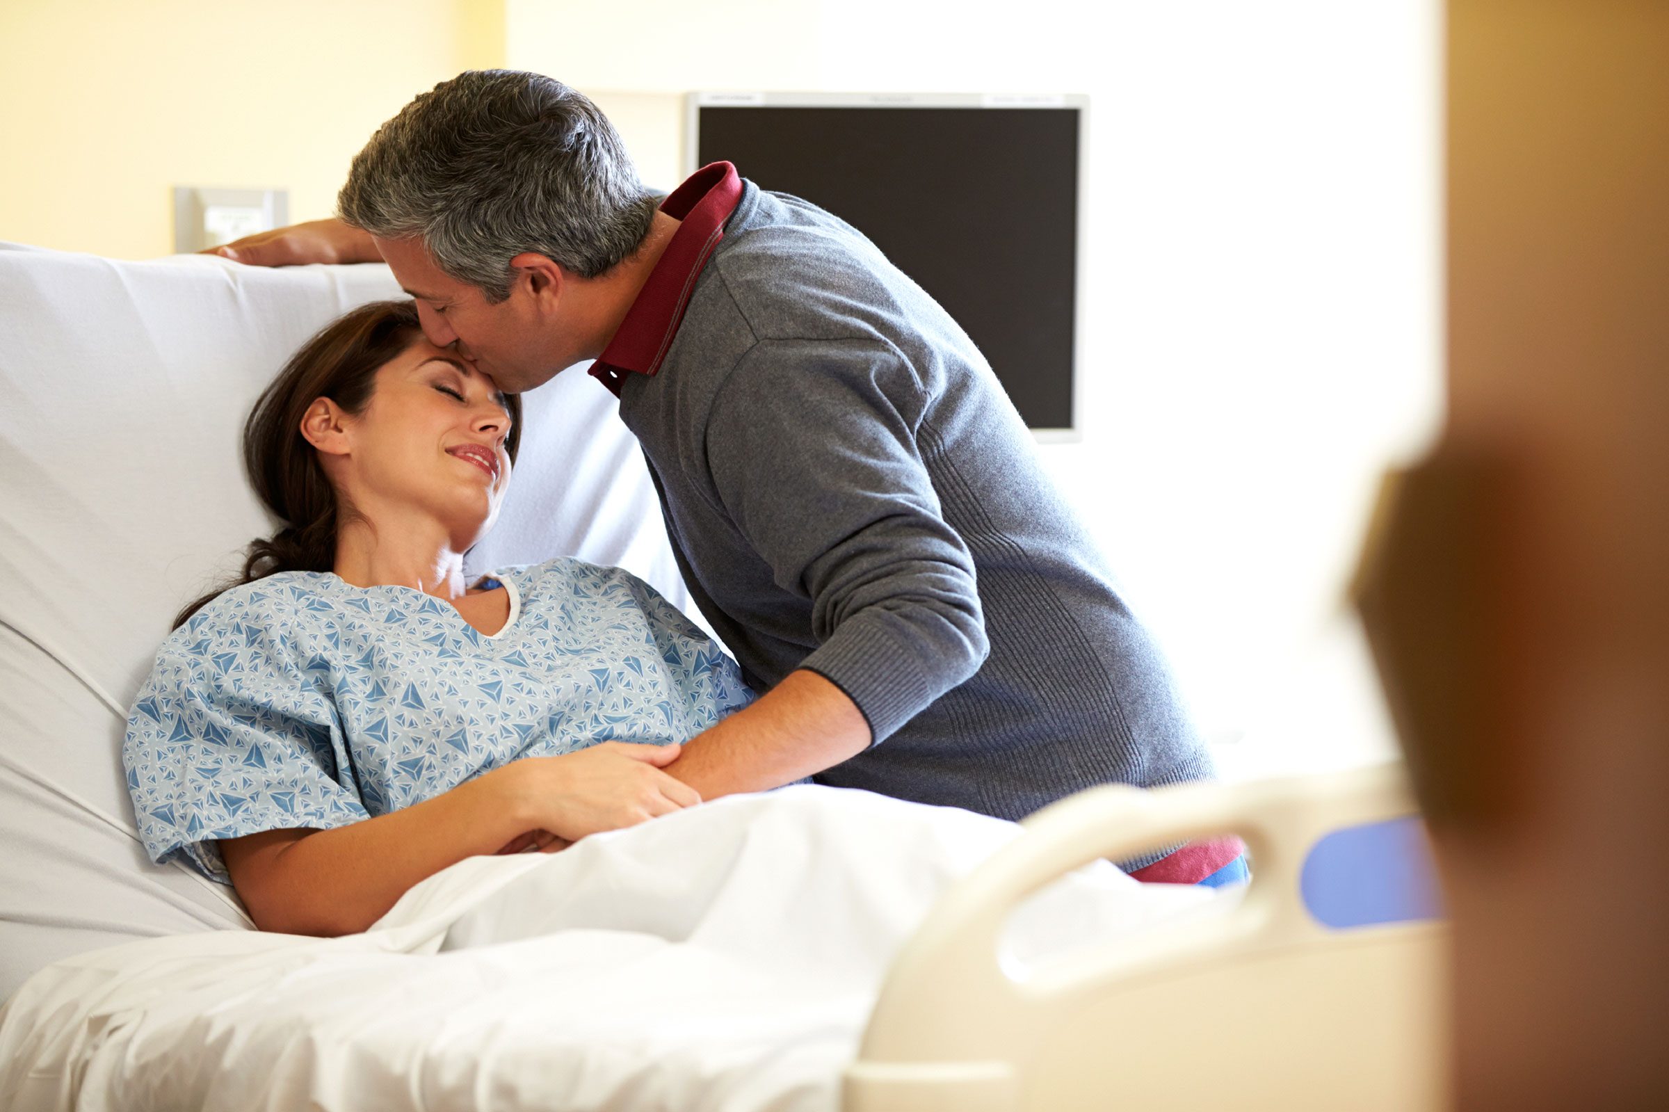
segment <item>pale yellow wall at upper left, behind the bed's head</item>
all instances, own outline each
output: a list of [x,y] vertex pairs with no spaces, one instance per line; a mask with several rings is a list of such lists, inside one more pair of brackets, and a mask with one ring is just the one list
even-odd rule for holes
[[174,185],[329,215],[382,120],[502,45],[481,0],[5,0],[0,239],[169,254]]

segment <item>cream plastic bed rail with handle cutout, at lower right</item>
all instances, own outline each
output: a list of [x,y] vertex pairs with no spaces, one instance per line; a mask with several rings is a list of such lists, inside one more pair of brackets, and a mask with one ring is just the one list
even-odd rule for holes
[[[1400,766],[1157,791],[1095,788],[935,907],[881,990],[846,1112],[1445,1107],[1442,922],[1334,930],[1300,870],[1324,835],[1414,815]],[[1008,913],[1095,860],[1240,833],[1253,882],[1227,915],[1026,975]]]

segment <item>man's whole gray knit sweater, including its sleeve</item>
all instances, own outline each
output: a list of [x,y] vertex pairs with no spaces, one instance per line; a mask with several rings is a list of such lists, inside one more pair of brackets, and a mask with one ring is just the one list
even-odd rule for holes
[[870,721],[819,783],[1020,818],[1212,775],[985,357],[851,225],[744,184],[621,417],[744,678],[809,668]]

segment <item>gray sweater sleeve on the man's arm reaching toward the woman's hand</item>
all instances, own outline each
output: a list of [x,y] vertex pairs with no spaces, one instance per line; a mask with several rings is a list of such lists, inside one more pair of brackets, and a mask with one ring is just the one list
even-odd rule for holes
[[990,646],[973,558],[916,444],[925,397],[875,341],[761,341],[713,401],[706,462],[776,586],[811,601],[801,661],[881,741],[971,676]]

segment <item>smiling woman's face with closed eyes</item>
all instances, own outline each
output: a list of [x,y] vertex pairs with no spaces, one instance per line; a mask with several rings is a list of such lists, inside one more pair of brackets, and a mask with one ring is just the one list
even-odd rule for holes
[[492,528],[511,483],[511,414],[489,376],[419,339],[377,369],[371,402],[342,426],[349,451],[332,481],[374,524],[429,516],[456,551]]

